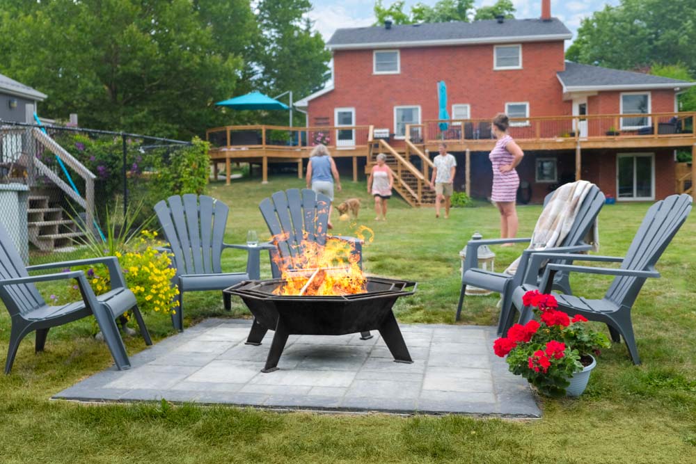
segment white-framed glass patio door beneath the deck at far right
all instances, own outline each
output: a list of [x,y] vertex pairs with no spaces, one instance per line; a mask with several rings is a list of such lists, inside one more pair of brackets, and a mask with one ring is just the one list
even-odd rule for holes
[[654,200],[655,155],[652,153],[617,155],[616,184],[619,200]]

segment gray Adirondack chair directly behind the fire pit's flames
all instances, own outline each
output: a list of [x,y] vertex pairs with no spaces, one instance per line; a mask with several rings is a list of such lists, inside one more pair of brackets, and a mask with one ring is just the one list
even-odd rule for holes
[[[289,189],[278,191],[265,198],[259,205],[261,214],[268,225],[276,246],[271,248],[271,274],[280,278],[278,261],[301,253],[303,243],[312,241],[319,245],[327,240],[340,240],[350,243],[351,259],[356,259],[362,267],[363,245],[356,237],[327,235],[329,222],[329,205],[331,200],[326,195],[315,193],[310,189]],[[263,335],[258,332],[258,324],[254,323],[250,339],[258,340]],[[265,333],[265,332],[264,332]],[[370,339],[369,332],[361,333],[362,339]],[[250,342],[251,344],[251,342]]]

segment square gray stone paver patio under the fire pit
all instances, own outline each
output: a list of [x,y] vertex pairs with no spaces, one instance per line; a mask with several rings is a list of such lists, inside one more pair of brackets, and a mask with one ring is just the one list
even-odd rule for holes
[[495,328],[400,324],[413,364],[374,333],[291,335],[263,374],[272,333],[245,345],[251,321],[207,319],[63,390],[54,399],[221,403],[270,409],[540,417],[528,383],[493,354]]

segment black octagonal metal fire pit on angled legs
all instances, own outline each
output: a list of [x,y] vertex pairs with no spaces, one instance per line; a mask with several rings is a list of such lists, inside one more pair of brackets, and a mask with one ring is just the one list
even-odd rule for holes
[[288,335],[346,335],[379,330],[396,362],[413,362],[392,307],[397,298],[416,291],[416,282],[367,277],[364,291],[358,294],[279,294],[284,287],[296,283],[292,280],[247,280],[225,290],[240,296],[254,316],[248,344],[261,344],[267,331],[275,330],[262,372],[278,369]]

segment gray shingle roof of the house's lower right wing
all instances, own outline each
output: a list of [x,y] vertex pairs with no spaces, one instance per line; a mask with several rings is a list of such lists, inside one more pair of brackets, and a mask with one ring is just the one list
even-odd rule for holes
[[668,86],[693,86],[695,83],[670,79],[669,77],[653,76],[642,72],[612,70],[608,67],[592,65],[580,65],[566,61],[565,71],[557,73],[558,79],[566,88],[593,88],[605,86],[626,86],[628,88],[644,86],[668,87]]

